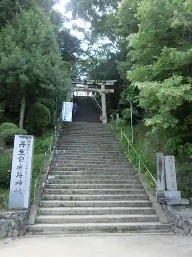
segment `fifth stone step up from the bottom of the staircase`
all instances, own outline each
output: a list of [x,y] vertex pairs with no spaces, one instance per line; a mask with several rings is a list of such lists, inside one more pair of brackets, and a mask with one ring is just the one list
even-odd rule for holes
[[148,200],[148,195],[123,194],[43,194],[42,200]]

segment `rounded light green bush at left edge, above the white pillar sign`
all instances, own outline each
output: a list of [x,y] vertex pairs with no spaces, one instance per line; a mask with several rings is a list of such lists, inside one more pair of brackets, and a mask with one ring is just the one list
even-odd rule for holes
[[27,131],[20,129],[11,122],[3,123],[0,126],[0,139],[7,144],[13,144],[15,135],[27,135]]

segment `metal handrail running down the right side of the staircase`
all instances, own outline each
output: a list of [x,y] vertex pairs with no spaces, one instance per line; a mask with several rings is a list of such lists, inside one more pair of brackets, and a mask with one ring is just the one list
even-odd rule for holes
[[[112,118],[112,128],[113,128],[113,123],[115,122],[115,130],[117,130],[117,122],[116,120],[113,118],[113,115],[111,116]],[[152,173],[150,172],[150,170],[148,170],[148,168],[146,167],[146,165],[141,162],[141,156],[137,153],[137,151],[135,150],[134,146],[132,145],[132,143],[130,142],[130,140],[126,137],[126,135],[124,134],[124,132],[122,131],[121,128],[121,141],[122,141],[122,137],[125,137],[125,139],[128,142],[128,152],[130,152],[130,146],[133,149],[133,151],[136,153],[137,157],[138,157],[138,168],[139,168],[139,173],[141,173],[141,163],[143,164],[143,166],[145,167],[146,171],[148,172],[148,174],[150,174],[150,176],[152,177],[153,181],[155,182],[156,185],[156,204],[158,204],[158,200],[157,200],[157,187],[159,187],[159,184],[157,182],[157,180],[154,178],[154,176],[152,175]]]

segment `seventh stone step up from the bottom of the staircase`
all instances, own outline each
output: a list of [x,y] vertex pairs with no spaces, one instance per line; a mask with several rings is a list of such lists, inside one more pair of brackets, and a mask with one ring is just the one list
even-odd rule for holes
[[143,185],[116,185],[116,184],[53,184],[45,185],[48,189],[143,189]]

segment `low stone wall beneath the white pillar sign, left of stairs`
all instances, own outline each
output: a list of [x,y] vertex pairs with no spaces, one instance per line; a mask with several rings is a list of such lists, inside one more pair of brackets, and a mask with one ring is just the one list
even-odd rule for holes
[[24,235],[28,217],[29,210],[0,213],[0,238]]

